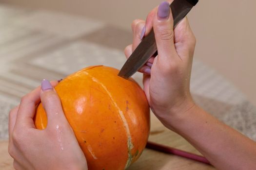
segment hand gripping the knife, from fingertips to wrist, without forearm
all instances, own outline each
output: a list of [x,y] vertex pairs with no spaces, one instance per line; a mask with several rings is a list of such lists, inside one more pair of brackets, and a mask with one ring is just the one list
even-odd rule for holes
[[[144,27],[145,25],[145,27]],[[190,94],[190,75],[196,38],[187,18],[173,29],[173,17],[168,2],[153,9],[146,20],[132,23],[133,44],[127,46],[128,58],[144,35],[154,28],[158,56],[149,59],[140,71],[149,105],[160,121],[171,128],[171,115],[182,114],[195,104]]]

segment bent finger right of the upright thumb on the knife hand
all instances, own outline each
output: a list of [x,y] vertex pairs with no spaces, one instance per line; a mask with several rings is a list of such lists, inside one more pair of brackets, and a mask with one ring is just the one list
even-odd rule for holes
[[182,19],[174,29],[174,37],[175,48],[181,59],[183,60],[188,56],[193,56],[196,37],[193,34],[187,17]]

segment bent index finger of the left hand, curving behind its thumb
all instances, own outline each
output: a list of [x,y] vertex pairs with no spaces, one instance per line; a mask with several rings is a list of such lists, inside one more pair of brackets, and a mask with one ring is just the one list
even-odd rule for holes
[[[53,86],[56,86],[57,84],[57,81],[52,82]],[[41,87],[39,86],[31,93],[22,97],[16,119],[16,125],[18,127],[35,128],[33,118],[36,107],[40,102],[40,89]]]

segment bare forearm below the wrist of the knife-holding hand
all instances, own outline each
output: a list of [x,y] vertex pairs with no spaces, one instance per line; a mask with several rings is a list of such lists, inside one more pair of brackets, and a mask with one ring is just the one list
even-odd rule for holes
[[197,105],[183,114],[172,114],[169,124],[217,169],[252,170],[256,167],[256,142]]

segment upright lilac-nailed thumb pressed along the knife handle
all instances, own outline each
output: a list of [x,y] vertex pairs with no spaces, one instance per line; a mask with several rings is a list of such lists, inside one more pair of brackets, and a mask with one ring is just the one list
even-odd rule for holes
[[153,29],[155,33],[158,56],[165,62],[177,59],[177,52],[174,45],[173,16],[170,4],[162,2],[155,13]]

